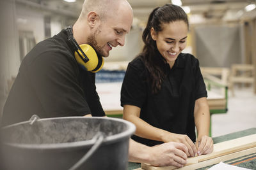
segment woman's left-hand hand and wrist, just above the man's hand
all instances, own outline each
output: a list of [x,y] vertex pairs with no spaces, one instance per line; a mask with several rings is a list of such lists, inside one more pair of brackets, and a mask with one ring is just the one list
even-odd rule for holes
[[186,152],[188,157],[195,157],[196,146],[186,134],[175,134],[167,132],[163,135],[163,142],[167,143],[170,141],[183,143],[188,148],[188,151]]

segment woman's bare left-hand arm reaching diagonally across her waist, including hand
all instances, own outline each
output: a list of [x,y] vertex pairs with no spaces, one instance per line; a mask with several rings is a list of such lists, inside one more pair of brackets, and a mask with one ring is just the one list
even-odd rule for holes
[[184,143],[188,148],[188,152],[186,152],[188,157],[195,156],[196,147],[187,135],[171,133],[148,124],[140,118],[140,111],[140,108],[137,106],[124,105],[124,119],[136,125],[135,134],[137,136],[155,141],[163,141],[164,143],[170,141]]

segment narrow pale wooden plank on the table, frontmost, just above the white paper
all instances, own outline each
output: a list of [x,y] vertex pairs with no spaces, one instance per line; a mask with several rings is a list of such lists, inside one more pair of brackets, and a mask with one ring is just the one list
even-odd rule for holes
[[[209,159],[209,160],[205,160],[205,161],[202,161],[202,162],[198,162],[197,164],[191,164],[189,166],[180,167],[180,168],[177,168],[175,170],[198,169],[198,168],[201,168],[201,167],[206,167],[206,166],[211,166],[213,164],[218,164],[220,162],[224,162],[224,161],[227,161],[227,160],[243,157],[244,155],[250,155],[252,153],[256,153],[256,147],[249,148],[249,149],[246,149],[246,150],[241,150],[239,152],[230,153],[230,154],[227,154],[227,155],[223,155],[221,157],[216,157],[214,159]],[[159,169],[157,169],[157,170],[163,170],[163,169],[161,169],[162,167],[158,167],[158,168]],[[141,167],[141,168],[138,168],[136,170],[148,170],[148,169],[144,169],[144,168]],[[168,170],[172,170],[172,169],[168,169]]]

